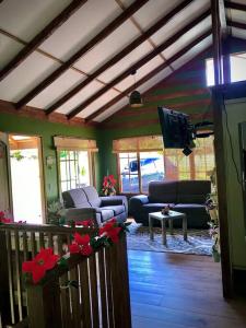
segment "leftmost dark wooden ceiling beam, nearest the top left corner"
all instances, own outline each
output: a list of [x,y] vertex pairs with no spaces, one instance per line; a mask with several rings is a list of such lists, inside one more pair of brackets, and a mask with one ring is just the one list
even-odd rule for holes
[[73,0],[62,12],[46,25],[17,55],[0,71],[0,81],[19,67],[37,47],[81,8],[87,0]]

